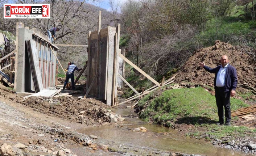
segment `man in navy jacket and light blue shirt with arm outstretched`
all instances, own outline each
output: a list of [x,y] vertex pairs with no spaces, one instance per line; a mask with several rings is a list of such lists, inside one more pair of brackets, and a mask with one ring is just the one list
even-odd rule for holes
[[220,66],[216,68],[210,68],[205,65],[204,62],[199,63],[199,66],[203,67],[210,73],[215,73],[214,88],[215,98],[218,107],[219,121],[217,125],[224,123],[223,106],[225,110],[226,126],[231,126],[231,109],[230,109],[230,96],[235,96],[238,78],[236,75],[235,67],[228,64],[228,56],[223,55],[220,59]]

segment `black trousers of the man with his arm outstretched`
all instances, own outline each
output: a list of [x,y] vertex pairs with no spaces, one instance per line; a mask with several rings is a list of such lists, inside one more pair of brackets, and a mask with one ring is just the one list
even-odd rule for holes
[[224,123],[223,106],[225,110],[226,122],[231,121],[230,91],[224,92],[224,87],[215,87],[215,98],[218,107],[219,122]]

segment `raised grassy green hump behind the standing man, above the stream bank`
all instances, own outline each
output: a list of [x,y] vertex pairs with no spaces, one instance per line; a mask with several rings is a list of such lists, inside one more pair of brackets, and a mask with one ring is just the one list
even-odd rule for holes
[[[138,106],[143,107],[150,99],[150,95],[139,101]],[[149,102],[149,101],[148,101]],[[243,101],[231,98],[231,110],[248,106]],[[215,97],[198,87],[193,89],[172,89],[162,92],[161,96],[154,98],[148,107],[140,113],[140,117],[164,126],[170,123],[198,124],[200,122],[217,121],[217,107]]]

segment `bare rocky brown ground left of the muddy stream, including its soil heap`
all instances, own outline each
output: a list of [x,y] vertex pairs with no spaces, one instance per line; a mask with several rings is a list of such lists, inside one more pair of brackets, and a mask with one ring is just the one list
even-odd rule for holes
[[[120,115],[94,99],[57,100],[30,97],[26,100],[0,85],[0,156],[190,156],[150,147],[111,147],[100,143],[97,136],[77,132],[76,127],[118,126]],[[135,128],[135,131],[143,128]],[[72,151],[83,149],[86,153]],[[199,156],[199,155],[193,155]]]

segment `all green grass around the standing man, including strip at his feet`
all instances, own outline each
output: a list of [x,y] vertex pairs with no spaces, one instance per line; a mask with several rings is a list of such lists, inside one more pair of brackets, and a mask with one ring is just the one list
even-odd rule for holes
[[[231,138],[253,136],[256,130],[244,126],[218,126],[218,110],[215,97],[206,92],[204,88],[171,89],[162,92],[158,97],[150,93],[138,103],[139,117],[146,121],[154,121],[166,127],[175,127],[176,124],[192,124],[191,130],[186,134],[190,137],[203,137],[206,139]],[[243,101],[231,97],[231,110],[249,106]],[[237,120],[232,118],[232,121]]]

